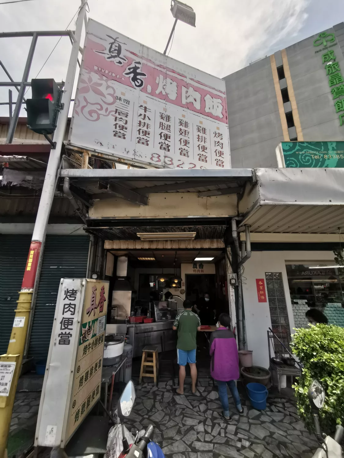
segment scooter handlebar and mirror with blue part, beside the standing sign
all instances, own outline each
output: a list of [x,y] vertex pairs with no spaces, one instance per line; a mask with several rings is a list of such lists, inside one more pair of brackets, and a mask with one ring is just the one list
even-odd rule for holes
[[153,425],[149,425],[144,435],[138,438],[139,431],[136,433],[133,444],[128,445],[128,440],[124,433],[124,420],[128,419],[135,401],[135,387],[130,380],[124,388],[121,397],[118,400],[117,416],[121,421],[122,427],[122,453],[119,458],[165,458],[161,448],[155,442],[150,440],[153,433]]

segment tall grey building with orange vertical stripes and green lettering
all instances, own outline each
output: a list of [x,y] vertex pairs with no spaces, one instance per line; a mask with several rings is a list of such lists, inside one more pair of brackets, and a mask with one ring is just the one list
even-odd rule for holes
[[276,167],[282,141],[344,140],[344,23],[224,78],[233,168]]

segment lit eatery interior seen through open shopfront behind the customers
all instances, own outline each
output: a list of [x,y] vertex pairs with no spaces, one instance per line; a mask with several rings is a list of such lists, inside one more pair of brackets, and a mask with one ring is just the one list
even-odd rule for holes
[[[218,312],[229,311],[223,249],[108,252],[114,256],[114,268],[107,329],[111,330],[111,325],[127,324],[134,358],[142,356],[145,345],[156,345],[159,352],[175,351],[177,333],[172,325],[184,310],[185,299],[196,303],[208,293],[212,304],[222,304]],[[197,261],[198,258],[202,260]],[[215,322],[214,316],[211,323],[205,324]]]

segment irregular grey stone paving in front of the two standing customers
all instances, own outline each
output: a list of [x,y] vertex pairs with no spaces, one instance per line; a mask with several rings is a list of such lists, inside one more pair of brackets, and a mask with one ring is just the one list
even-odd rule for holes
[[200,381],[196,395],[174,393],[172,381],[158,387],[137,387],[134,409],[126,426],[133,433],[154,425],[154,440],[166,458],[311,458],[316,439],[296,414],[295,401],[270,396],[265,411],[243,401],[244,415],[237,414],[229,397],[232,420],[222,411],[212,382]]

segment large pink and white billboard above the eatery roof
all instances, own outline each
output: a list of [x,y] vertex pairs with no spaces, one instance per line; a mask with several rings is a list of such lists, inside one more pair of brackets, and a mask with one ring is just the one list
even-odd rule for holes
[[128,163],[229,169],[225,82],[89,20],[68,142]]

